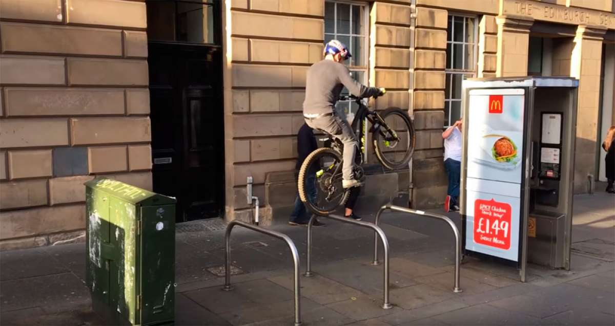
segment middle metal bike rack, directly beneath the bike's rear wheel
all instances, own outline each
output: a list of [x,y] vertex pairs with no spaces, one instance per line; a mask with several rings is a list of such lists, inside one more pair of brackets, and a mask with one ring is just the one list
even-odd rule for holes
[[[377,225],[374,225],[372,223],[357,221],[357,220],[349,219],[348,217],[341,217],[335,214],[321,215],[321,216],[327,217],[328,219],[332,219],[332,220],[338,220],[339,222],[359,225],[359,227],[370,228],[371,230],[374,230],[376,234],[376,240],[378,236],[380,236],[380,239],[382,240],[382,243],[384,246],[384,303],[382,305],[382,308],[383,309],[393,308],[393,305],[389,303],[389,241],[387,240],[386,235],[384,234],[384,231],[381,228],[379,228]],[[316,219],[316,215],[312,214],[312,217],[311,219],[309,219],[309,223],[308,223],[308,262],[306,265],[307,266],[306,273],[304,274],[304,276],[306,277],[314,276],[314,273],[312,273],[312,270],[311,270],[312,268],[311,256],[312,256],[312,223],[314,223],[315,219]]]

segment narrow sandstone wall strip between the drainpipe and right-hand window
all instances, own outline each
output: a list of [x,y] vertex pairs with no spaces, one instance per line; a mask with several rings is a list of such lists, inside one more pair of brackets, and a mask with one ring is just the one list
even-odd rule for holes
[[444,126],[446,28],[448,10],[416,8],[415,76],[413,112],[416,150],[412,165],[412,204],[432,208],[446,196],[443,165],[442,128]]

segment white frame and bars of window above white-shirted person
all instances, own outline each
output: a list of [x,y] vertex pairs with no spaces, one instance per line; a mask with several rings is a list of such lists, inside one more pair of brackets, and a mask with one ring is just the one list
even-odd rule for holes
[[[448,44],[451,44],[451,55],[450,58],[448,58],[448,56],[446,57],[446,63],[445,63],[445,83],[446,80],[448,80],[448,85],[445,85],[444,88],[444,110],[445,110],[445,117],[448,116],[448,120],[445,120],[444,122],[444,128],[448,128],[449,126],[451,126],[451,109],[452,109],[452,104],[453,102],[459,102],[461,103],[461,98],[453,98],[453,76],[454,75],[466,75],[466,76],[470,76],[470,77],[476,77],[478,74],[478,16],[477,15],[470,15],[470,14],[461,14],[461,13],[457,13],[457,12],[449,12],[448,16],[446,17],[446,20],[448,21],[448,18],[452,17],[451,19],[451,35],[450,35],[450,41],[448,39],[448,28],[447,28],[447,36],[446,36],[446,46],[448,47]],[[473,34],[473,39],[474,42],[466,42],[466,41],[454,41],[454,31],[455,31],[455,26],[454,26],[454,18],[455,17],[462,17],[462,18],[469,18],[474,20],[474,33]],[[463,35],[466,35],[466,28],[467,28],[467,21],[464,19],[464,23],[463,23]],[[462,45],[462,58],[461,58],[461,69],[459,68],[453,68],[454,66],[454,45],[455,44],[461,44]],[[473,45],[474,48],[474,54],[472,56],[472,61],[473,61],[473,68],[470,69],[464,69],[464,67],[466,67],[466,47],[464,45]],[[446,66],[448,66],[448,64],[450,63],[450,67],[451,68],[446,68]],[[450,77],[449,77],[450,76]],[[447,78],[448,77],[448,78]],[[463,77],[462,77],[463,78]],[[448,86],[448,93],[446,92],[446,88]],[[459,85],[459,87],[461,87],[461,85]],[[461,95],[462,97],[463,95]],[[446,114],[448,111],[448,114]]]

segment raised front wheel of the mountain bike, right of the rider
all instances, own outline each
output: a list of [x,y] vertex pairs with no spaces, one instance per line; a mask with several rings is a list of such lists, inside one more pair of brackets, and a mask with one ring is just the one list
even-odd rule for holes
[[379,126],[372,133],[378,160],[389,169],[405,168],[415,151],[415,127],[402,109],[391,107],[379,112],[386,126]]

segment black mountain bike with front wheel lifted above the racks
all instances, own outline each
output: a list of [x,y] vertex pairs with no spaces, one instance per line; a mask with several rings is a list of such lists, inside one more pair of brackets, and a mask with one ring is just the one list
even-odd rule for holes
[[[359,109],[352,120],[352,130],[359,139],[355,155],[354,177],[363,179],[363,157],[366,135],[371,134],[378,161],[388,169],[408,165],[415,149],[415,128],[406,111],[389,107],[384,111],[371,111],[361,98],[354,95],[340,96],[339,101],[354,101]],[[370,123],[367,130],[365,123]],[[327,215],[346,203],[350,188],[342,187],[343,144],[325,133],[325,147],[314,150],[303,161],[299,171],[299,196],[312,212]]]

